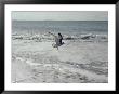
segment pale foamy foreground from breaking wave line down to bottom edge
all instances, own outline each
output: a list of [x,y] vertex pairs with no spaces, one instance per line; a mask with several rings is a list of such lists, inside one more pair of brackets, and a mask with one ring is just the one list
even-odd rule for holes
[[63,37],[57,50],[47,32],[12,35],[12,82],[107,83],[108,36]]

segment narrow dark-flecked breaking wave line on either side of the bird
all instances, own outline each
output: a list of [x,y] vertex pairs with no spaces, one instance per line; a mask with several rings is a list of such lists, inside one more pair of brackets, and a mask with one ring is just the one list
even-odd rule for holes
[[[52,36],[49,36],[48,33],[43,35],[12,35],[12,40],[37,40],[37,41],[44,41],[44,40],[53,40]],[[93,33],[87,33],[87,35],[63,35],[63,40],[106,40],[108,41],[107,35],[93,35]]]

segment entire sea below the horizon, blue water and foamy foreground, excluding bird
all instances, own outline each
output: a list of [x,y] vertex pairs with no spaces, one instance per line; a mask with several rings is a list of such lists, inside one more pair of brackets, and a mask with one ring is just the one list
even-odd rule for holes
[[108,83],[107,33],[103,21],[13,21],[12,83]]

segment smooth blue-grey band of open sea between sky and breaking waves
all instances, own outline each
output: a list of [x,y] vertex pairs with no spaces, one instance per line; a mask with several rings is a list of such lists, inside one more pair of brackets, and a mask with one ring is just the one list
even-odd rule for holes
[[12,33],[108,33],[108,21],[12,21]]

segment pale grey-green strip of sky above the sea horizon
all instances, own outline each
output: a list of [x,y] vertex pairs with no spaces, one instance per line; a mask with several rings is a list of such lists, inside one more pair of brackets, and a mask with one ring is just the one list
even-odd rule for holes
[[13,11],[16,21],[108,21],[107,11]]

